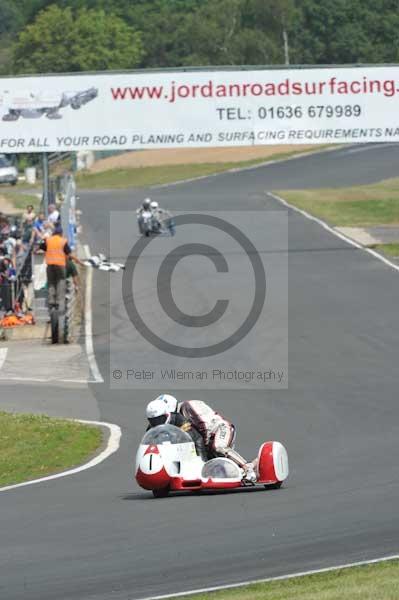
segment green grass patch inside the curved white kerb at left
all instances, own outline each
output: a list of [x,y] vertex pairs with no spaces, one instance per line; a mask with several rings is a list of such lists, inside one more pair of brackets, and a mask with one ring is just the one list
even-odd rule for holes
[[82,464],[101,442],[102,432],[97,427],[0,412],[0,487]]

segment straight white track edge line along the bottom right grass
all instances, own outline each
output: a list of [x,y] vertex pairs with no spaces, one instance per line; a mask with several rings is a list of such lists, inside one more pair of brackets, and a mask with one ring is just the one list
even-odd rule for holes
[[247,585],[254,585],[256,583],[270,583],[271,581],[284,581],[285,579],[295,579],[296,577],[306,577],[307,575],[318,575],[319,573],[330,573],[331,571],[341,571],[342,569],[350,569],[351,567],[364,567],[366,565],[373,565],[380,562],[386,562],[388,560],[398,560],[399,554],[392,556],[384,556],[382,558],[375,558],[373,560],[362,560],[360,562],[349,563],[346,565],[337,565],[335,567],[326,567],[325,569],[314,569],[312,571],[302,571],[300,573],[290,573],[289,575],[280,575],[279,577],[268,577],[267,579],[253,579],[251,581],[243,581],[242,583],[231,583],[229,585],[218,585],[209,588],[200,588],[198,590],[188,590],[187,592],[178,592],[177,594],[165,594],[163,596],[147,596],[146,598],[140,598],[140,600],[167,600],[168,598],[181,598],[182,596],[194,596],[196,594],[207,594],[209,592],[218,592],[223,590],[232,590]]

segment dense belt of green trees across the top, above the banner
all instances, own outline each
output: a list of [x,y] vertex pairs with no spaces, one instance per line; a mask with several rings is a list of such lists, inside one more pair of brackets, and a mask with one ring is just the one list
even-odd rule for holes
[[[399,0],[0,0],[0,70],[397,62]],[[27,25],[28,24],[28,25]],[[25,29],[22,29],[25,28]]]

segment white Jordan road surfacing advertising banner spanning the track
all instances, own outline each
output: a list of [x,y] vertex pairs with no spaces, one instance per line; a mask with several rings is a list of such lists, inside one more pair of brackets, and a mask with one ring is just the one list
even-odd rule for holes
[[399,139],[399,66],[0,79],[0,153]]

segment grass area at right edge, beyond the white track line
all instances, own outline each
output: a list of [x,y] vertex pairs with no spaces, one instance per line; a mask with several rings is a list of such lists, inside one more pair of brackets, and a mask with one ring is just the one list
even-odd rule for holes
[[331,225],[399,224],[399,178],[338,189],[283,190],[291,204]]

